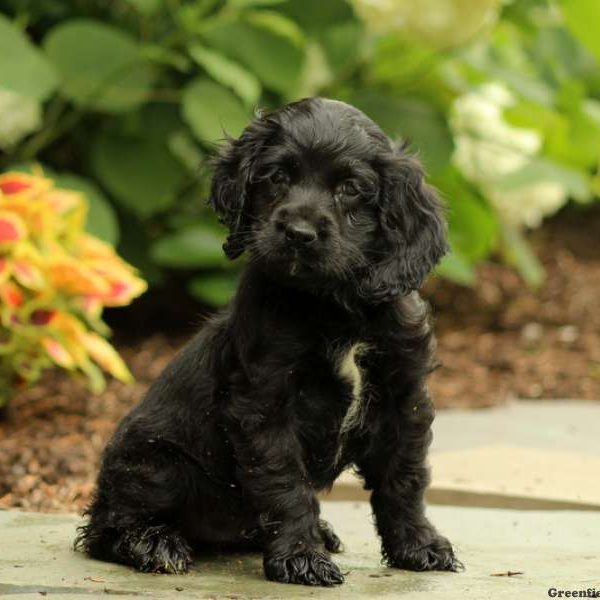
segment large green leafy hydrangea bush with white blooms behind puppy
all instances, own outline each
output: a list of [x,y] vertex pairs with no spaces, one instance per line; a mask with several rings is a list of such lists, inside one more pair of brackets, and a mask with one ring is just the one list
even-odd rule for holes
[[[199,165],[256,106],[321,94],[408,138],[450,205],[440,274],[600,192],[595,0],[0,0],[0,156],[83,190],[88,227],[149,282],[224,302],[236,266]],[[435,19],[431,16],[434,15]],[[119,236],[119,231],[126,235]]]

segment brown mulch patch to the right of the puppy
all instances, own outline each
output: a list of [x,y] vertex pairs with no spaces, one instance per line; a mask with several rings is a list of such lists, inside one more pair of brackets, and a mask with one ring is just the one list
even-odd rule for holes
[[432,380],[439,407],[600,400],[600,210],[562,214],[532,242],[546,269],[538,291],[494,263],[479,268],[474,289],[427,286],[442,361]]

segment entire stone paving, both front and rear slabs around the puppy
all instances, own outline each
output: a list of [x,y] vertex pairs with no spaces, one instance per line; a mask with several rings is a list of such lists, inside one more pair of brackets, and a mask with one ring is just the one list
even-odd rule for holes
[[[466,564],[460,574],[383,567],[366,493],[346,474],[330,497],[352,501],[323,503],[347,549],[335,557],[348,573],[340,588],[267,582],[258,555],[199,556],[188,575],[143,575],[71,550],[75,515],[0,511],[0,596],[535,600],[593,588],[600,598],[599,426],[600,403],[572,400],[440,411],[429,501],[465,506],[429,515]],[[548,510],[559,507],[577,510]]]

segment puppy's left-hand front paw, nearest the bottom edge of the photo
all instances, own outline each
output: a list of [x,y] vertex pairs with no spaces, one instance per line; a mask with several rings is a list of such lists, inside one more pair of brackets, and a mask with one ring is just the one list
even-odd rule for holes
[[267,579],[281,583],[332,586],[344,582],[344,576],[329,557],[316,550],[307,550],[286,558],[264,559]]

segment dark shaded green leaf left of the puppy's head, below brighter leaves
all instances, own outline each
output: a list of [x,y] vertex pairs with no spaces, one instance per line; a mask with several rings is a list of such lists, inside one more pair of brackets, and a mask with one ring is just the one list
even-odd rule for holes
[[92,169],[127,210],[147,218],[175,201],[184,169],[166,140],[102,132],[91,152]]

